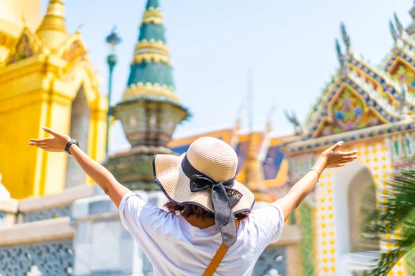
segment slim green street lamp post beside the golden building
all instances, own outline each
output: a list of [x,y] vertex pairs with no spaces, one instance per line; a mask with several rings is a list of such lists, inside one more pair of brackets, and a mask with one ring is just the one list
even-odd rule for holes
[[109,81],[108,81],[108,112],[107,112],[107,140],[105,142],[105,153],[108,154],[108,145],[109,145],[109,124],[110,124],[110,116],[111,116],[111,92],[112,92],[112,73],[113,69],[117,63],[117,56],[116,56],[116,46],[121,43],[122,39],[118,35],[118,30],[116,27],[111,30],[111,33],[105,39],[107,44],[110,47],[109,55],[107,57],[107,63],[109,67]]

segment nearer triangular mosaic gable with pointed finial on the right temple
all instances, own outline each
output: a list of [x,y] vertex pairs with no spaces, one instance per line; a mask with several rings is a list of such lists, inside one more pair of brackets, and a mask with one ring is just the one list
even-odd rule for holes
[[336,40],[340,69],[308,116],[308,133],[302,135],[303,140],[396,123],[403,119],[403,109],[414,108],[412,97],[396,78],[353,54],[344,24],[341,30],[346,52]]

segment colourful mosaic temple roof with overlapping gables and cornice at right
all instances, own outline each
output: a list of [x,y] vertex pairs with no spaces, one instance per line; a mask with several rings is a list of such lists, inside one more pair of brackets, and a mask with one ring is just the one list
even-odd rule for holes
[[340,69],[313,106],[306,120],[308,132],[299,141],[284,145],[286,154],[414,129],[415,40],[396,14],[394,21],[389,29],[395,46],[382,66],[372,66],[355,55],[341,24],[346,52],[336,40]]

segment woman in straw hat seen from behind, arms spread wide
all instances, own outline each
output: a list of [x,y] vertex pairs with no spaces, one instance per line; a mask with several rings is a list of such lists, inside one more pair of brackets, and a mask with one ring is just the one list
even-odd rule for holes
[[156,155],[154,178],[169,211],[143,201],[68,135],[30,139],[30,146],[73,156],[120,210],[123,226],[154,266],[155,275],[251,275],[259,255],[282,234],[284,221],[313,190],[325,168],[341,167],[356,151],[325,150],[317,163],[282,199],[252,211],[254,195],[234,180],[237,155],[225,142],[203,137],[180,157]]

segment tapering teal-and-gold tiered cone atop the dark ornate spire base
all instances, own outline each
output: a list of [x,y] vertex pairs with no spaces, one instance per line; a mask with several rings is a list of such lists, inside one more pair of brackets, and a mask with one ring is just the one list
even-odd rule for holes
[[178,102],[158,0],[148,0],[123,101],[152,96]]

